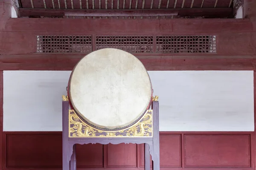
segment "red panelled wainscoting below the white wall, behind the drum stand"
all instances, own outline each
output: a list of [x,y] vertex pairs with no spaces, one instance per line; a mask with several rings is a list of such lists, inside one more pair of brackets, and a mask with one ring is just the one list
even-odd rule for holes
[[[184,134],[185,133],[185,134]],[[254,168],[252,132],[160,132],[160,167],[165,170]],[[184,143],[183,138],[184,136]],[[61,168],[61,132],[4,132],[4,169]],[[18,142],[17,142],[18,141]],[[85,170],[143,170],[143,144],[77,145]],[[105,148],[105,149],[104,149]],[[184,153],[184,154],[183,154]],[[183,165],[182,160],[185,160]],[[231,170],[230,169],[230,170]]]

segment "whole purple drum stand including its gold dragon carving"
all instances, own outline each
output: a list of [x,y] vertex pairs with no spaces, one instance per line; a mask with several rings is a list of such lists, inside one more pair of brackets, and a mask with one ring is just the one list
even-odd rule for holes
[[144,144],[145,170],[150,170],[150,155],[152,170],[160,170],[158,96],[152,98],[151,110],[148,110],[136,124],[125,130],[111,132],[97,130],[87,125],[73,110],[70,110],[67,96],[62,96],[62,99],[63,170],[76,170],[76,144],[89,143]]

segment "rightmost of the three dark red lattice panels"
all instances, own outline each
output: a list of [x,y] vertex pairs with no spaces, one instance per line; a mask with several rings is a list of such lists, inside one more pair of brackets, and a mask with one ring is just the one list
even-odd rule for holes
[[216,36],[157,36],[157,53],[215,53]]

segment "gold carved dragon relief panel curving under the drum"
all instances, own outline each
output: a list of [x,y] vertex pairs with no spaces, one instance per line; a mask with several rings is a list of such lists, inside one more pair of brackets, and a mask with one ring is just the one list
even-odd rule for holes
[[69,111],[69,137],[148,137],[152,136],[152,110],[134,125],[123,130],[104,131],[87,125],[74,110]]

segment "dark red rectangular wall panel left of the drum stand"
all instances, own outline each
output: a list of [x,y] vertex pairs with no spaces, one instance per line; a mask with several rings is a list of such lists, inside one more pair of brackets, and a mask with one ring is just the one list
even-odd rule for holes
[[61,167],[61,134],[6,134],[6,167]]

